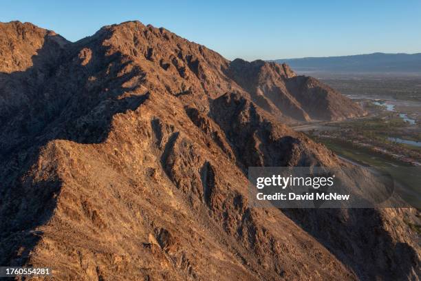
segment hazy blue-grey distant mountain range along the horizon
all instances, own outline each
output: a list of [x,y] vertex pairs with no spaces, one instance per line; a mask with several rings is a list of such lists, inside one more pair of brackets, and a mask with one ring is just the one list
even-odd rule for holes
[[349,72],[378,74],[421,74],[421,53],[417,54],[356,54],[352,56],[276,59],[288,63],[298,72]]

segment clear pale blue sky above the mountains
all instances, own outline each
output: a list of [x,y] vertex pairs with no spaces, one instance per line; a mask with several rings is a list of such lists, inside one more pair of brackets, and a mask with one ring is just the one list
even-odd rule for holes
[[421,1],[0,0],[0,21],[30,21],[70,41],[138,19],[227,59],[421,52]]

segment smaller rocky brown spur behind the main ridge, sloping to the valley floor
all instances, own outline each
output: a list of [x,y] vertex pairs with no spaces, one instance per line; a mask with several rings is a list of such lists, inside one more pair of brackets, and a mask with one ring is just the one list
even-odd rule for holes
[[333,121],[364,114],[349,98],[317,79],[296,76],[285,64],[236,59],[230,63],[227,74],[249,93],[252,101],[276,116]]

